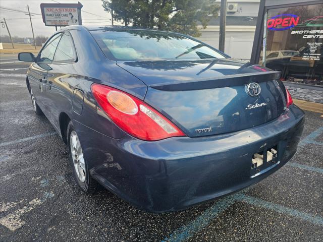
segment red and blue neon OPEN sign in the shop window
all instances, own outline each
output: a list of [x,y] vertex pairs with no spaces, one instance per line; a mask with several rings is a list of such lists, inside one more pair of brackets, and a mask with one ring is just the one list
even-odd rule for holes
[[271,30],[286,30],[298,24],[299,17],[294,14],[280,14],[267,20],[267,28]]

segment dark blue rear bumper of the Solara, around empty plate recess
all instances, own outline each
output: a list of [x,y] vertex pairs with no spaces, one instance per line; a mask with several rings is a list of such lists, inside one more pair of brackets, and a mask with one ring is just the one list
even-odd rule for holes
[[[272,122],[210,137],[146,142],[112,139],[74,122],[91,175],[122,199],[168,212],[234,193],[281,168],[296,152],[304,113],[297,106]],[[251,178],[251,157],[278,145],[279,164]]]

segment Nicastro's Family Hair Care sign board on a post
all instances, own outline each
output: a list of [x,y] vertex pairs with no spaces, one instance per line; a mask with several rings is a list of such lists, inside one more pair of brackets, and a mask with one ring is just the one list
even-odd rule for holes
[[81,8],[77,4],[40,4],[42,21],[46,26],[82,25]]

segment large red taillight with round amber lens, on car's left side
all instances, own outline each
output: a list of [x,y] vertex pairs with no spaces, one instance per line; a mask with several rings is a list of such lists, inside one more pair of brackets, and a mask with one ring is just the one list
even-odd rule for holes
[[185,136],[170,120],[128,93],[101,84],[92,84],[91,90],[113,122],[136,138],[154,141]]

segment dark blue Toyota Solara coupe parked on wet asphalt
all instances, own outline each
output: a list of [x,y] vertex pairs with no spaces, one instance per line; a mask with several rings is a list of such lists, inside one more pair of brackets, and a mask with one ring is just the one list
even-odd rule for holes
[[258,183],[304,127],[279,72],[178,33],[69,26],[19,60],[32,62],[33,109],[67,144],[80,188],[150,212]]

